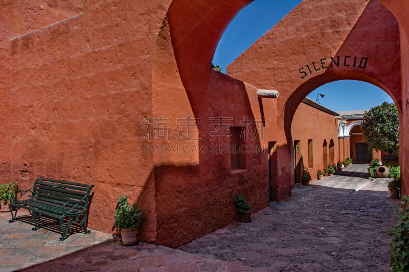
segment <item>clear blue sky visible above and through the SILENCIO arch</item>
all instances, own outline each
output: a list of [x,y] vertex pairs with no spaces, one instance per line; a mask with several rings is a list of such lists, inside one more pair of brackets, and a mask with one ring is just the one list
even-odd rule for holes
[[[224,32],[213,58],[225,73],[226,66],[250,47],[269,29],[296,7],[301,0],[255,0],[245,7]],[[316,94],[321,105],[334,111],[367,110],[392,102],[391,97],[378,87],[361,81],[342,80],[325,84],[312,91],[308,97],[315,101]]]

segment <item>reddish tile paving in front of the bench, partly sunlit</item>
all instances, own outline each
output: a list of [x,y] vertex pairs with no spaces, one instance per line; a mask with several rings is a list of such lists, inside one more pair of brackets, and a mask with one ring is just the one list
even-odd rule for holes
[[[109,233],[76,233],[60,242],[60,234],[38,229],[23,212],[8,224],[0,213],[0,271],[246,271],[242,264],[205,259],[165,246],[139,242],[122,246]],[[28,222],[29,224],[27,224]],[[119,237],[117,237],[118,240]]]

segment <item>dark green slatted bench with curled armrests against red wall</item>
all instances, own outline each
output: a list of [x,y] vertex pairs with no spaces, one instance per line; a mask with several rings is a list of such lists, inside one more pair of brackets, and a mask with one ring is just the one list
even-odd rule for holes
[[[27,209],[33,216],[35,226],[32,231],[40,227],[40,218],[47,215],[55,218],[62,229],[60,241],[67,237],[67,231],[73,222],[77,222],[85,233],[89,192],[94,185],[81,184],[63,180],[52,180],[39,177],[30,190],[16,190],[16,198],[10,202],[11,220],[16,220],[20,208]],[[26,195],[22,199],[22,196]],[[13,214],[14,212],[14,214]]]

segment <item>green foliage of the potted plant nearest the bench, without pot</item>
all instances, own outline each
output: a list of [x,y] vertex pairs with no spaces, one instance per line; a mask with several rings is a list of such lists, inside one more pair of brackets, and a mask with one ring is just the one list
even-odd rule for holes
[[138,204],[133,204],[132,207],[128,203],[127,195],[118,196],[118,208],[113,214],[115,219],[115,227],[118,229],[134,229],[138,228],[142,221],[142,211],[139,210]]

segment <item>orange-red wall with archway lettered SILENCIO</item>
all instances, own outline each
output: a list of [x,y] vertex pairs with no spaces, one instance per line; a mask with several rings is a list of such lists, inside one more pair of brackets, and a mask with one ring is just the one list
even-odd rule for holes
[[[313,15],[305,16],[306,10]],[[338,11],[336,19],[333,10]],[[387,92],[401,113],[400,69],[396,68],[399,63],[399,28],[393,14],[378,0],[349,0],[325,4],[303,1],[228,66],[228,74],[235,78],[280,91],[277,122],[281,162],[277,164],[281,171],[277,174],[277,200],[285,198],[292,188],[292,171],[284,162],[292,161],[289,128],[303,98],[331,81],[360,80]]]

